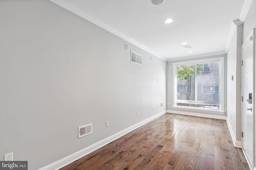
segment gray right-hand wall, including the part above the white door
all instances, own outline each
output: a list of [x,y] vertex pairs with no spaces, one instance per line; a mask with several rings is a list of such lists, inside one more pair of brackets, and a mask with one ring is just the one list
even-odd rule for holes
[[[228,49],[227,60],[227,119],[234,133],[235,140],[241,141],[241,47],[246,41],[253,28],[256,27],[256,0],[252,5],[244,20],[243,25],[239,25],[233,35],[232,42]],[[230,76],[234,75],[234,80]],[[232,119],[231,119],[232,117]]]

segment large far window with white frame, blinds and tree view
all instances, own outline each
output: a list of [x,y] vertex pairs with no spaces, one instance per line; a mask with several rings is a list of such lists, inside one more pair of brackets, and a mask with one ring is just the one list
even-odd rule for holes
[[223,60],[174,63],[173,107],[224,112]]

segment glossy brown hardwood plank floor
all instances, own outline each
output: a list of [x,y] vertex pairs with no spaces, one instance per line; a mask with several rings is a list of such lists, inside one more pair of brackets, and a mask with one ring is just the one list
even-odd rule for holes
[[166,113],[61,170],[249,170],[226,120]]

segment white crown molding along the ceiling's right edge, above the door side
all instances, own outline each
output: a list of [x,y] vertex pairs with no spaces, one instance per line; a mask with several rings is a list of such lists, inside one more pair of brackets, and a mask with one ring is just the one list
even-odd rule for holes
[[[245,20],[245,18],[246,18],[246,15],[247,15],[247,13],[248,13],[248,11],[249,11],[251,5],[252,5],[252,0],[245,0],[245,1],[244,1],[244,5],[243,5],[243,7],[242,7],[242,10],[241,10],[239,19],[237,19],[237,20],[239,20],[241,23],[244,22],[244,20]],[[234,21],[237,21],[237,20],[234,20]],[[233,21],[233,23],[236,24],[234,21]],[[230,43],[231,43],[231,41],[232,41],[232,37],[233,37],[234,32],[235,32],[235,30],[236,30],[236,25],[234,25],[233,23],[232,23],[232,25],[231,25],[231,27],[230,27],[230,30],[229,30],[229,33],[228,33],[228,40],[227,40],[226,47],[225,47],[225,52],[226,52],[226,53],[228,52],[228,48],[229,48],[229,46],[230,46]],[[240,25],[242,25],[242,24],[240,24]]]

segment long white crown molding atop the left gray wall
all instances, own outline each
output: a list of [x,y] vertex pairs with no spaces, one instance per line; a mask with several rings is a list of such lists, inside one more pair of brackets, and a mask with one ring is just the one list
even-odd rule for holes
[[85,12],[79,10],[78,8],[70,5],[69,3],[67,3],[66,1],[64,0],[50,0],[51,2],[53,2],[54,4],[57,4],[58,6],[61,6],[62,8],[65,8],[66,10],[84,18],[85,20],[88,20],[92,23],[94,23],[95,25],[105,29],[106,31],[128,41],[129,43],[139,47],[140,49],[143,49],[144,51],[164,60],[164,61],[167,61],[167,59],[165,57],[160,57],[159,55],[157,55],[156,53],[154,53],[153,51],[151,51],[150,49],[144,47],[143,45],[141,45],[140,43],[137,43],[136,41],[130,39],[129,37],[127,37],[126,35],[116,31],[115,29],[111,28],[110,26],[108,26],[106,23],[86,14]]

